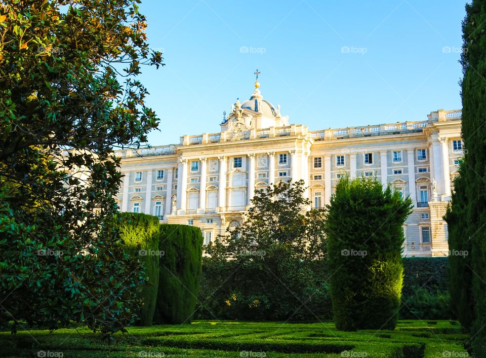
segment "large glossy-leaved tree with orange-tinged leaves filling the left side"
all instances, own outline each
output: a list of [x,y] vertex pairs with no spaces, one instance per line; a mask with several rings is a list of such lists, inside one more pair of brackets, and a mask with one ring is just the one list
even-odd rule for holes
[[136,319],[144,273],[107,220],[121,177],[112,147],[157,126],[137,76],[162,58],[138,3],[0,6],[0,325],[109,334]]

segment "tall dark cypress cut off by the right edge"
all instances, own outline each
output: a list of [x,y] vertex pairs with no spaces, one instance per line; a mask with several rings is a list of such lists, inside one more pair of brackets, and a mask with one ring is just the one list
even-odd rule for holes
[[[464,275],[451,296],[461,308],[466,327],[473,318],[471,334],[475,356],[486,357],[486,1],[466,5],[462,23],[462,138],[464,162],[456,193],[446,214],[451,225],[451,248],[468,250],[470,259],[451,259],[451,276]],[[469,251],[470,250],[470,251]],[[468,255],[469,256],[469,255]],[[472,295],[469,287],[472,288]],[[458,292],[465,289],[463,296]],[[472,296],[472,297],[471,297]],[[459,298],[458,298],[459,297]],[[474,311],[471,312],[471,307]]]

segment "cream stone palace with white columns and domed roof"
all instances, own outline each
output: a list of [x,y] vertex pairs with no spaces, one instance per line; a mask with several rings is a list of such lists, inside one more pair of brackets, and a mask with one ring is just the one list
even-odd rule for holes
[[270,183],[302,179],[311,206],[320,208],[342,175],[373,176],[414,202],[403,227],[404,255],[448,254],[442,216],[463,156],[460,110],[431,112],[422,121],[310,131],[290,124],[280,106],[263,99],[258,81],[255,87],[249,100],[231,106],[217,133],[118,151],[125,175],[116,198],[120,210],[196,225],[208,243],[240,225],[255,190]]

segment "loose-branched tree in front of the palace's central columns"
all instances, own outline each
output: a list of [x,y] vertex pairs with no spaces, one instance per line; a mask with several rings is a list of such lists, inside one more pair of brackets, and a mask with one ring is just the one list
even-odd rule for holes
[[323,211],[306,210],[310,201],[304,191],[302,180],[257,190],[241,225],[205,246],[210,258],[203,267],[207,296],[201,299],[211,312],[226,318],[295,319],[326,310],[327,286],[314,269],[326,257]]

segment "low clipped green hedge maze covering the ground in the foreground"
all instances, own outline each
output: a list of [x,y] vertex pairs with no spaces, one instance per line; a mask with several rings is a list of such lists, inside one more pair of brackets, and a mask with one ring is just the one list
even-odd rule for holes
[[107,344],[88,330],[0,333],[2,357],[392,357],[468,356],[468,336],[449,321],[402,320],[395,331],[339,332],[333,323],[194,321],[131,328]]

